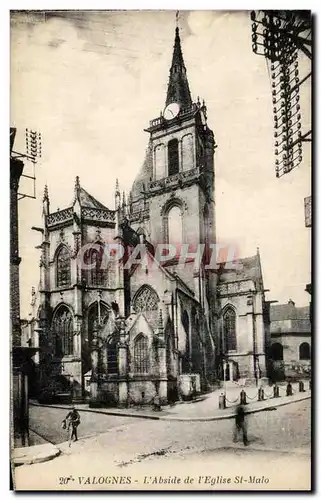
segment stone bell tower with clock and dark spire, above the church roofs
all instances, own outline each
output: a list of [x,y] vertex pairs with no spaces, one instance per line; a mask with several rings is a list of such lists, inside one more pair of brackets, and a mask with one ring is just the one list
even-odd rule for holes
[[[179,28],[164,111],[150,121],[150,170],[144,184],[150,241],[215,242],[214,135],[207,125],[205,102],[193,102],[183,59]],[[171,211],[178,215],[176,241],[170,241]],[[181,228],[179,227],[181,225]]]

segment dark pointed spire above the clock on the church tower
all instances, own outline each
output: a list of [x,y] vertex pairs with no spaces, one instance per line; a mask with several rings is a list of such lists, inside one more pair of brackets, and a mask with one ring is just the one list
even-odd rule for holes
[[186,76],[186,68],[183,59],[178,26],[176,26],[175,29],[174,51],[169,73],[166,106],[172,102],[176,102],[182,108],[192,105],[192,98]]

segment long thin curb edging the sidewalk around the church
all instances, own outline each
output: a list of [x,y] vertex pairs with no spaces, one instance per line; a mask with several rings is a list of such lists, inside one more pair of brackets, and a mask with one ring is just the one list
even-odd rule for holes
[[[284,396],[285,397],[285,396]],[[261,406],[259,408],[248,408],[246,409],[245,413],[246,414],[251,414],[251,413],[258,413],[260,411],[266,411],[271,408],[277,408],[278,406],[285,406],[291,403],[297,403],[299,401],[303,401],[305,399],[310,399],[311,398],[311,393],[302,393],[302,396],[299,398],[292,399],[291,396],[287,396],[286,400],[278,401],[278,398],[272,398],[271,404],[266,405],[266,406]],[[267,400],[265,400],[267,401]],[[273,401],[273,402],[272,402]],[[264,403],[264,402],[262,402]],[[253,403],[250,403],[253,404]],[[58,406],[58,405],[46,405],[46,404],[40,404],[40,403],[30,403],[31,406],[41,406],[41,407],[46,407],[46,408],[58,408],[60,410],[69,410],[69,406]],[[229,410],[229,408],[228,408]],[[98,409],[92,409],[92,408],[77,408],[77,411],[84,411],[87,413],[98,413],[101,415],[111,415],[111,416],[117,416],[117,417],[131,417],[131,418],[142,418],[142,419],[148,419],[148,420],[173,420],[173,421],[180,421],[180,422],[206,422],[206,421],[214,421],[214,420],[225,420],[229,418],[234,418],[235,413],[234,412],[229,412],[225,413],[222,415],[214,415],[214,416],[208,416],[208,417],[180,417],[180,416],[175,416],[175,415],[146,415],[142,413],[132,413],[132,412],[124,412],[124,413],[119,413],[117,411],[102,411]],[[221,410],[224,412],[224,410]]]

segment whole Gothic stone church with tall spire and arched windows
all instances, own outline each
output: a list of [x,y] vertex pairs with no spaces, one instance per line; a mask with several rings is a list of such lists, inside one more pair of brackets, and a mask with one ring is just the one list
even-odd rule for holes
[[[219,380],[266,376],[259,251],[209,265],[216,144],[205,102],[191,97],[178,28],[164,111],[146,132],[143,165],[127,197],[116,184],[112,209],[77,177],[70,205],[51,212],[45,188],[33,302],[43,392],[125,406],[157,395],[165,404]],[[106,260],[108,245],[122,258]]]

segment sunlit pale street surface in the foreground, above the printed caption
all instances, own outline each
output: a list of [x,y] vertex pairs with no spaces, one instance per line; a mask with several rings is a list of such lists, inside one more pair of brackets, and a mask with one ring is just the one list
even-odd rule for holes
[[[86,424],[83,419],[80,437],[90,428],[92,434],[96,429],[94,438],[80,439],[70,449],[63,443],[60,446],[61,456],[50,462],[18,467],[16,474],[20,480],[28,474],[34,478],[51,477],[55,487],[58,487],[58,478],[66,474],[73,478],[112,473],[126,476],[133,471],[145,474],[146,470],[163,470],[163,467],[173,474],[182,467],[185,472],[193,470],[192,463],[204,469],[204,473],[214,466],[215,471],[224,470],[223,464],[225,470],[226,467],[232,470],[231,464],[235,467],[252,464],[253,470],[254,463],[262,475],[270,467],[277,472],[286,464],[290,467],[292,462],[299,462],[299,470],[308,474],[310,405],[310,400],[305,400],[274,411],[249,415],[250,445],[247,448],[241,443],[232,443],[233,420],[175,422],[128,418],[126,422],[119,417],[89,415],[91,424],[89,420]],[[62,410],[56,412],[58,415]],[[56,415],[53,411],[53,422],[57,421]],[[103,419],[109,431],[100,433],[103,432]],[[77,487],[70,483],[69,487],[72,486]]]

